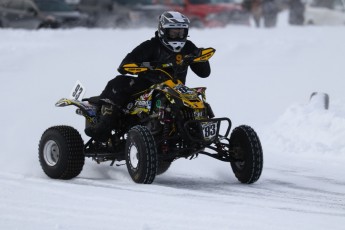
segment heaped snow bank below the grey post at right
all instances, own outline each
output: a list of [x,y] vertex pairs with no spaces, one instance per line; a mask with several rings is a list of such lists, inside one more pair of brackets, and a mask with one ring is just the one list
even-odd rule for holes
[[345,157],[344,140],[344,102],[331,102],[326,110],[320,100],[290,106],[263,137],[269,152],[302,156]]

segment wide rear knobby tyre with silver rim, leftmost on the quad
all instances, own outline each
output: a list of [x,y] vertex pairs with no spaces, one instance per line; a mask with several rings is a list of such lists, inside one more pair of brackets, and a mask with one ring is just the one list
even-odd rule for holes
[[84,143],[70,126],[48,128],[39,142],[38,155],[45,174],[53,179],[72,179],[83,169]]

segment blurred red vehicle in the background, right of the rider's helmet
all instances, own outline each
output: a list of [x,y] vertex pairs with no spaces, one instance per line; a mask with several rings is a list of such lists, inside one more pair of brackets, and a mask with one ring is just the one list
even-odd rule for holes
[[229,24],[249,25],[248,11],[236,0],[153,0],[185,14],[191,27],[222,27]]

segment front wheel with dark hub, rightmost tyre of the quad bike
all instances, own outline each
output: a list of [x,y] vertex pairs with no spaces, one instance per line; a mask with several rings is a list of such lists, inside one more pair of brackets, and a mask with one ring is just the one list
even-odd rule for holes
[[230,151],[236,159],[231,162],[236,178],[241,183],[256,182],[263,167],[262,147],[256,132],[246,125],[235,128],[230,136]]

